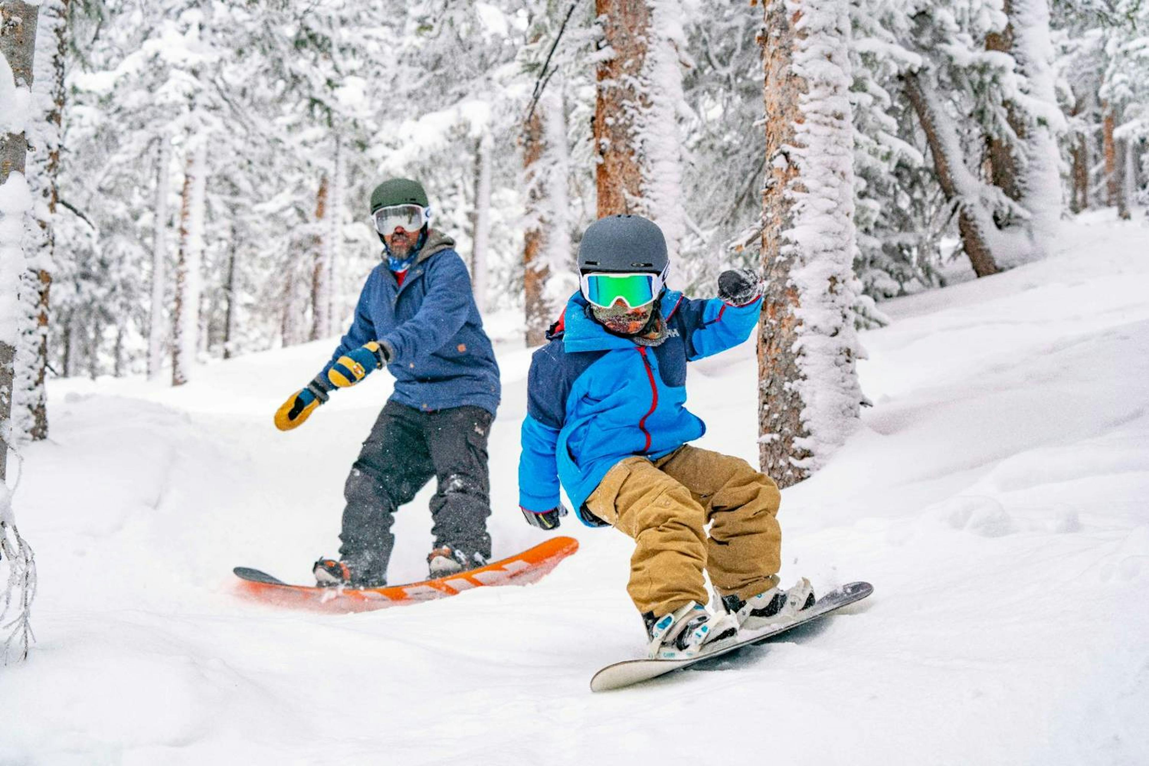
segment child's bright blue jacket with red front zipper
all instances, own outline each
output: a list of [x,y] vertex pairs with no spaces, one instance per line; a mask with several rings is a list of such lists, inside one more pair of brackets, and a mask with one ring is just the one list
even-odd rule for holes
[[562,482],[584,524],[583,503],[620,459],[656,459],[705,433],[686,407],[686,363],[745,341],[762,299],[734,307],[719,299],[663,293],[669,338],[655,347],[612,335],[587,316],[576,293],[565,326],[531,358],[518,502],[542,512],[560,503]]

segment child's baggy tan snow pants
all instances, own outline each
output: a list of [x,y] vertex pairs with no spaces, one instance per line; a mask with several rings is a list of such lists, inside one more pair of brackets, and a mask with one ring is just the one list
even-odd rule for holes
[[778,485],[746,461],[685,446],[653,463],[619,461],[586,506],[634,539],[627,593],[640,612],[661,617],[707,603],[703,570],[723,596],[777,585],[780,501]]

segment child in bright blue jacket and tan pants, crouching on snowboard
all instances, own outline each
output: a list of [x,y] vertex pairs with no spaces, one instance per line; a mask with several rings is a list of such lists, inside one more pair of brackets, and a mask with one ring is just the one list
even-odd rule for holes
[[[685,408],[686,364],[747,339],[758,277],[725,271],[710,300],[665,289],[665,239],[640,216],[593,223],[578,265],[580,289],[531,361],[518,472],[526,520],[558,526],[561,485],[584,524],[634,539],[627,591],[651,658],[696,655],[812,604],[805,580],[777,587],[778,486],[742,459],[686,443],[705,431]],[[720,618],[705,609],[703,571]]]

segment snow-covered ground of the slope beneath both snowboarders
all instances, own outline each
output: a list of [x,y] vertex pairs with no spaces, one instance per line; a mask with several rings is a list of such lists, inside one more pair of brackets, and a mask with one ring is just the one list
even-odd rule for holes
[[[306,581],[337,548],[387,377],[271,424],[330,342],[177,390],[55,382],[15,496],[39,641],[0,668],[0,763],[1147,764],[1149,229],[1095,216],[1058,241],[863,333],[874,407],[779,518],[786,581],[873,596],[602,695],[592,673],[643,635],[612,529],[568,520],[581,550],[524,588],[334,617],[233,595],[234,565]],[[496,555],[543,535],[515,502],[527,362],[501,346]],[[754,377],[751,345],[693,367],[701,446],[756,459]],[[430,492],[400,514],[393,582],[424,573]]]

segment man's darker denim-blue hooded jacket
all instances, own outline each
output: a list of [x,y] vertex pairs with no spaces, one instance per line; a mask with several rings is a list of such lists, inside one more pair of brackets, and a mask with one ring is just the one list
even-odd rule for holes
[[499,364],[455,241],[431,230],[400,287],[380,263],[367,278],[355,319],[321,378],[340,356],[368,341],[391,346],[391,399],[417,410],[499,407]]

